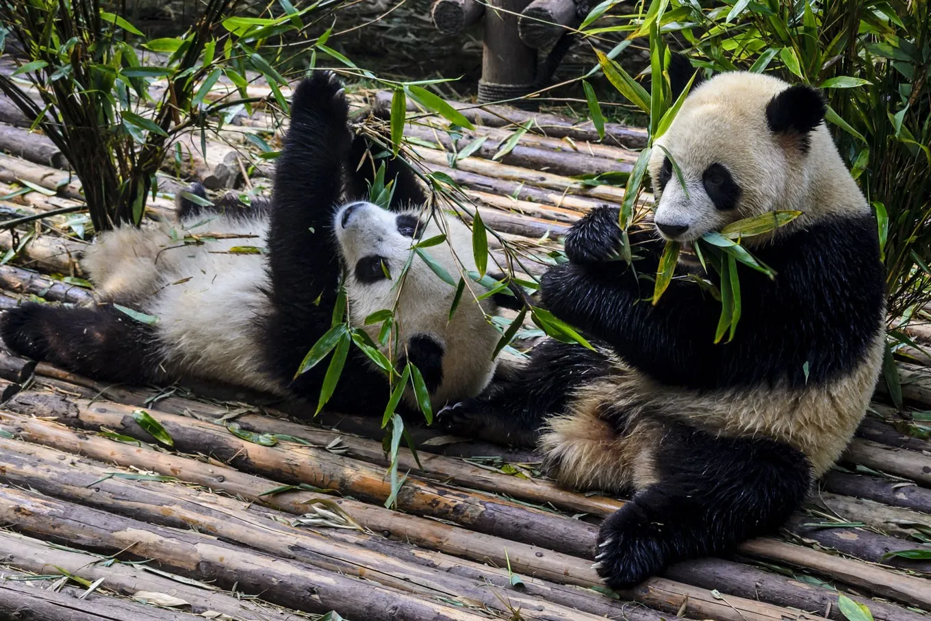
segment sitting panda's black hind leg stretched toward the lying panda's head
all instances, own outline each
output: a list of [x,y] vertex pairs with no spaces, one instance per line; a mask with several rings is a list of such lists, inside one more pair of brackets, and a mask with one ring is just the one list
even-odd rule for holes
[[610,371],[597,351],[546,340],[531,350],[526,365],[499,368],[479,397],[439,412],[439,425],[458,435],[531,448],[546,415],[561,413],[575,388]]

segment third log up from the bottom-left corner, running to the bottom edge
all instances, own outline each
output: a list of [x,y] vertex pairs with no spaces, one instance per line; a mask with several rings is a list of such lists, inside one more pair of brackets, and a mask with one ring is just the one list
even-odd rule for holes
[[135,558],[157,559],[162,567],[179,574],[261,593],[269,601],[307,613],[335,610],[371,621],[486,618],[306,563],[251,552],[203,534],[146,524],[35,493],[0,489],[0,519],[22,533],[69,546],[109,553],[128,550]]

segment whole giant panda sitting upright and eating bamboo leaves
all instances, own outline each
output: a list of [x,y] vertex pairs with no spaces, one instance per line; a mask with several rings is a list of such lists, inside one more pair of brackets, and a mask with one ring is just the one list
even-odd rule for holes
[[[693,73],[684,64],[669,68],[673,97]],[[452,430],[536,442],[564,485],[633,492],[600,527],[595,567],[610,587],[775,531],[866,412],[884,355],[884,268],[825,111],[816,89],[765,74],[693,88],[654,144],[654,226],[631,231],[642,259],[614,260],[617,209],[595,209],[566,236],[569,262],[542,278],[542,304],[594,349],[538,345],[508,383],[440,412]],[[713,343],[721,304],[690,281],[703,271],[695,254],[651,304],[664,240],[689,250],[776,209],[803,215],[743,240],[776,277],[739,269],[732,342]]]

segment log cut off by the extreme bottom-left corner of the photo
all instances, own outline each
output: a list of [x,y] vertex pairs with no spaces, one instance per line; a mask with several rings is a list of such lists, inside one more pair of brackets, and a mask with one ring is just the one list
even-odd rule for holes
[[[53,591],[34,581],[0,580],[0,618],[28,621],[191,621],[190,614],[101,595],[79,600],[80,591]],[[28,577],[28,576],[23,576]]]

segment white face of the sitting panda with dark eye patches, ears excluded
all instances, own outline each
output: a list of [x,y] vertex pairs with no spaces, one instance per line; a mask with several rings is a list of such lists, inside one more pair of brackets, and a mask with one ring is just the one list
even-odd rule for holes
[[770,128],[767,106],[787,88],[768,75],[716,75],[689,94],[655,142],[649,164],[654,223],[661,236],[683,244],[683,263],[694,256],[692,242],[710,231],[811,204],[810,162],[830,136],[823,125],[810,134]]

